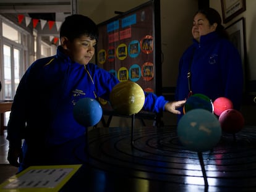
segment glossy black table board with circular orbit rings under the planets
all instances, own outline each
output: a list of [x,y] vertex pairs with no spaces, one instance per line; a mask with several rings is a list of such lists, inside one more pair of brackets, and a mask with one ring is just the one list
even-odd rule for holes
[[[182,191],[205,190],[198,154],[182,146],[176,127],[135,128],[133,144],[131,135],[130,128],[88,131],[85,164],[114,173],[116,178],[165,183]],[[202,152],[202,156],[208,191],[256,190],[255,128],[244,128],[236,139],[231,134],[223,135],[217,146]]]

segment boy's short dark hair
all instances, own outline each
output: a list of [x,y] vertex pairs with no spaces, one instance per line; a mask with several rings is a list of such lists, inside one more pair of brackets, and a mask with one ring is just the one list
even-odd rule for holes
[[88,35],[92,40],[98,41],[98,27],[85,15],[69,15],[62,23],[59,35],[66,36],[70,41],[82,35]]

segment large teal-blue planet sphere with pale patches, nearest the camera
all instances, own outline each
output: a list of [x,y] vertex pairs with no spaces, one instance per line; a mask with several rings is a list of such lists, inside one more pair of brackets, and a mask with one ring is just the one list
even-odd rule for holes
[[203,152],[218,144],[222,130],[220,122],[213,113],[206,109],[193,109],[179,120],[177,135],[186,149]]

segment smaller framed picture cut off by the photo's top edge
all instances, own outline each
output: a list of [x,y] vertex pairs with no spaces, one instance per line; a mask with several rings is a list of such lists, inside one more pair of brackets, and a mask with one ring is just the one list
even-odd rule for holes
[[245,0],[221,0],[223,23],[228,23],[246,10]]

